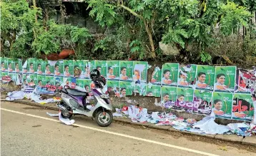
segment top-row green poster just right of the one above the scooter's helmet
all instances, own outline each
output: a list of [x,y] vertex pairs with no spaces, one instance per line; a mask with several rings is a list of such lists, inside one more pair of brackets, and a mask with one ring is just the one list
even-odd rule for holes
[[107,61],[107,79],[119,80],[119,61]]

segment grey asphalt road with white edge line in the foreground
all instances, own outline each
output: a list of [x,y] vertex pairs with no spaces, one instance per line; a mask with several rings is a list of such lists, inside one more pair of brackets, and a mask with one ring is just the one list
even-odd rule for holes
[[100,128],[82,116],[64,125],[46,112],[58,113],[1,101],[1,155],[256,155],[118,123]]

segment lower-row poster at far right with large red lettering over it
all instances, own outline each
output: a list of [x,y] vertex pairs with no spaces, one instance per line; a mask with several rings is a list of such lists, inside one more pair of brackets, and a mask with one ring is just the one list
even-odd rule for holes
[[253,101],[251,94],[235,93],[232,106],[232,119],[250,121],[253,118]]

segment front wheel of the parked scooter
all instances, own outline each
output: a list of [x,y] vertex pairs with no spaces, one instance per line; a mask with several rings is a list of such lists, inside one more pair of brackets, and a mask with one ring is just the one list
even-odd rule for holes
[[99,110],[95,116],[95,119],[99,126],[107,127],[112,123],[113,115],[109,110]]

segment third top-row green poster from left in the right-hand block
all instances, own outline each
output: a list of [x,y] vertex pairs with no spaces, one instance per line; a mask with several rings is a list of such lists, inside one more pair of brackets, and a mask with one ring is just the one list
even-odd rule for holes
[[213,90],[215,83],[215,67],[197,65],[197,81],[195,88],[200,90]]

